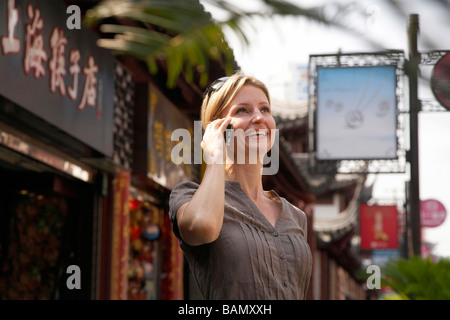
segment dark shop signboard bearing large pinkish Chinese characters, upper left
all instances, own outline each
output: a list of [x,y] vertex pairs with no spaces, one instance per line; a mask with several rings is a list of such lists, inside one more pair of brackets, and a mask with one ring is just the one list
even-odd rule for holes
[[0,98],[112,156],[118,62],[80,20],[64,1],[0,1]]

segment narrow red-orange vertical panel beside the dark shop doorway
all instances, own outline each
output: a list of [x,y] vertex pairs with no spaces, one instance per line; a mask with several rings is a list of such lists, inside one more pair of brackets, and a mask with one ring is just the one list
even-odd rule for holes
[[128,197],[130,172],[121,171],[114,180],[113,231],[111,254],[111,300],[127,299],[130,212]]

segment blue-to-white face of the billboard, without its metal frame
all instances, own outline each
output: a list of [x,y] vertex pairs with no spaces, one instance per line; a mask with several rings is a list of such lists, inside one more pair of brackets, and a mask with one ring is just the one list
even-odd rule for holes
[[395,66],[317,68],[317,159],[396,159],[396,86]]

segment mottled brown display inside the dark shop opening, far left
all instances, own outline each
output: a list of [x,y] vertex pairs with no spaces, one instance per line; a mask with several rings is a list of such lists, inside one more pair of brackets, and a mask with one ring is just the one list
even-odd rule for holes
[[11,202],[0,256],[1,300],[48,300],[57,291],[63,234],[68,215],[64,197],[21,190]]

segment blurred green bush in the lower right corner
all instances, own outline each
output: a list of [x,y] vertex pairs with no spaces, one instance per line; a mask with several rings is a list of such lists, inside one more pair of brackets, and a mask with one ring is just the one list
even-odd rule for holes
[[382,285],[390,287],[402,299],[450,300],[450,259],[437,262],[417,256],[395,259],[382,272]]

